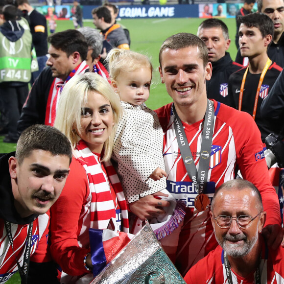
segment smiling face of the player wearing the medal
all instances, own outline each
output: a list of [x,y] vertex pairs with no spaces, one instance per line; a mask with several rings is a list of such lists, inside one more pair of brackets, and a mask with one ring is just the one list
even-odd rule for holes
[[205,81],[211,78],[212,65],[207,63],[204,68],[198,47],[164,49],[159,71],[176,106],[190,106],[199,100],[207,100]]

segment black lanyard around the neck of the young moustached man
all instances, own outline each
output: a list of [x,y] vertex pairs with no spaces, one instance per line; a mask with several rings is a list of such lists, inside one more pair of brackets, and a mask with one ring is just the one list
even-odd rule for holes
[[12,233],[11,233],[11,223],[8,222],[8,221],[5,221],[5,229],[6,229],[7,236],[9,238],[15,259],[17,261],[17,266],[18,266],[19,273],[20,273],[20,276],[21,276],[21,279],[22,279],[22,282],[21,282],[22,284],[27,284],[27,272],[28,272],[28,267],[29,267],[32,227],[33,227],[33,222],[31,222],[29,224],[27,237],[26,237],[26,246],[25,246],[25,249],[24,249],[23,266],[21,267],[19,260],[16,258],[15,251],[14,251],[13,237],[12,237]]

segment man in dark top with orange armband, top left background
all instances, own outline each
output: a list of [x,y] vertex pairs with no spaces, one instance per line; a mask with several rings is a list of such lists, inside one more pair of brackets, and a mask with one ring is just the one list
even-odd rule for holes
[[32,73],[31,84],[33,84],[47,63],[47,20],[44,15],[30,5],[28,0],[18,0],[18,4],[18,8],[23,11],[24,17],[29,23],[39,65],[39,70]]

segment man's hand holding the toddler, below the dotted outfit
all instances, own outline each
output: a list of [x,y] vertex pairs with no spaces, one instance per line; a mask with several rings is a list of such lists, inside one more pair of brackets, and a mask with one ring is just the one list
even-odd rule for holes
[[129,208],[136,216],[142,220],[151,220],[157,218],[160,214],[164,214],[163,207],[169,207],[170,203],[166,200],[155,198],[155,196],[168,196],[159,191],[140,198],[139,200],[129,204]]

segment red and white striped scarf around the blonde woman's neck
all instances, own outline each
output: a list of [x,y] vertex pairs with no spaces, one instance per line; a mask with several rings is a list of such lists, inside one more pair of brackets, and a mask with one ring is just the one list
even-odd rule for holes
[[84,167],[88,180],[89,188],[92,194],[91,198],[91,224],[90,228],[106,229],[111,218],[116,219],[116,210],[114,200],[111,194],[110,185],[116,193],[122,215],[123,232],[129,233],[127,204],[120,185],[117,173],[110,162],[104,162],[107,175],[101,168],[98,157],[92,153],[83,140],[80,140],[75,149],[75,155],[78,162]]

